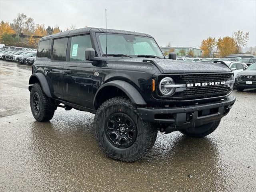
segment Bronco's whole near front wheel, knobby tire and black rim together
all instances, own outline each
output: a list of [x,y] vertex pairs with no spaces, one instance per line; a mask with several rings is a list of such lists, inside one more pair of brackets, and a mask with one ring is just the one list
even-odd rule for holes
[[111,98],[98,108],[94,118],[95,137],[100,148],[116,160],[132,162],[154,145],[157,129],[144,122],[134,104],[126,98]]

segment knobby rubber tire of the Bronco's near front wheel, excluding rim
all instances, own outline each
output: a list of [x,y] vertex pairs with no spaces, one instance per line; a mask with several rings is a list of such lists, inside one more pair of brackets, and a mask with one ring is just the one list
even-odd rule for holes
[[[132,118],[137,128],[136,140],[127,148],[114,146],[104,132],[105,122],[108,116],[120,111]],[[115,97],[104,102],[96,111],[94,117],[94,134],[100,148],[107,156],[115,160],[133,162],[141,158],[152,148],[156,141],[157,129],[152,123],[144,122],[140,118],[136,106],[130,100]]]

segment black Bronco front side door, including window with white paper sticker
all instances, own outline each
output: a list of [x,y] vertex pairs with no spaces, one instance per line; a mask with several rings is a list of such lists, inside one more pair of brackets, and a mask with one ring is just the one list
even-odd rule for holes
[[92,48],[90,35],[72,36],[68,40],[67,61],[64,62],[64,100],[93,109],[92,83],[94,66],[85,60],[86,48]]

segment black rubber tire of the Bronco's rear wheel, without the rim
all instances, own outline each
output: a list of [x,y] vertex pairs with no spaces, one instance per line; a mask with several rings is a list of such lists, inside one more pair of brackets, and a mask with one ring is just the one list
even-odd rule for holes
[[[39,112],[36,112],[34,108],[33,97],[35,93],[39,96]],[[55,103],[44,94],[41,85],[38,83],[35,83],[30,91],[30,108],[34,118],[39,122],[51,120],[54,115]]]

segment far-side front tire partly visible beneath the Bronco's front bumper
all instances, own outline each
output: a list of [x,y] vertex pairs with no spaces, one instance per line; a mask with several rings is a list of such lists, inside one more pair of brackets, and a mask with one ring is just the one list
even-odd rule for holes
[[210,122],[208,124],[204,124],[198,127],[189,127],[183,130],[180,130],[184,135],[188,137],[204,137],[216,130],[216,128],[219,126],[220,120]]

